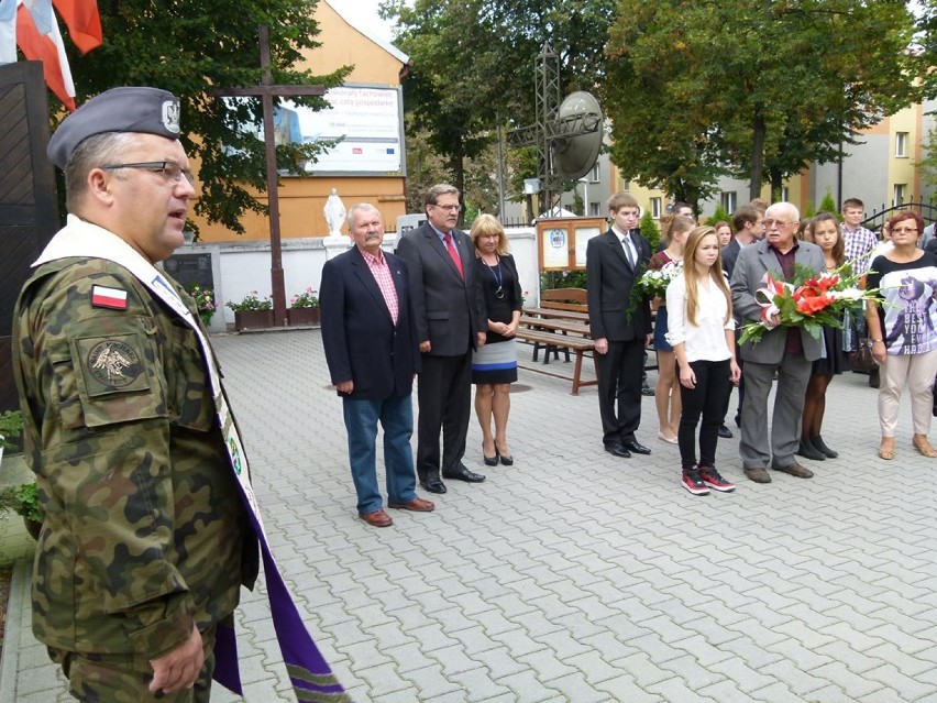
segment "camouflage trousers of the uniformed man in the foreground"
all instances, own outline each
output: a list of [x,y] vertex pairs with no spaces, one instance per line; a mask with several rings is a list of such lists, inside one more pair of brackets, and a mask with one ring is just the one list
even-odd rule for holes
[[175,693],[151,693],[153,667],[144,655],[90,655],[48,648],[62,666],[68,692],[81,703],[208,703],[214,673],[214,627],[201,633],[205,664],[195,686]]

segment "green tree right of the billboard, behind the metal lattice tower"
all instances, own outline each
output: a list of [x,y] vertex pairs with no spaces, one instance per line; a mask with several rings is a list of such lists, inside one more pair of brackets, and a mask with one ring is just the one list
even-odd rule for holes
[[[465,190],[466,163],[507,129],[537,121],[534,59],[544,42],[560,57],[560,92],[589,90],[614,0],[390,0],[395,44],[410,56],[404,83],[408,124],[444,157],[452,185]],[[521,160],[521,163],[528,162]],[[529,166],[527,166],[529,167]],[[537,176],[517,172],[518,179]]]

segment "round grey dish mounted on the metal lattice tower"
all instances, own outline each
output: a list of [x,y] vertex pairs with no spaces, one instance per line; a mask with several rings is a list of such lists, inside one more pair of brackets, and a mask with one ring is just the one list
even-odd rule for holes
[[551,140],[556,172],[576,180],[592,171],[602,149],[602,108],[592,94],[577,90],[566,96],[556,110],[556,134]]

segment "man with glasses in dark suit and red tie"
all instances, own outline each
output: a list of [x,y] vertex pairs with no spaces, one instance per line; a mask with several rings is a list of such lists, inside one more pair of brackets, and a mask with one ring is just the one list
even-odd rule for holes
[[[445,184],[425,198],[428,221],[406,233],[397,254],[410,273],[417,339],[422,352],[417,396],[417,473],[430,493],[445,493],[445,479],[485,480],[462,463],[472,405],[472,350],[485,343],[485,305],[475,285],[475,248],[455,229],[459,190]],[[442,430],[442,458],[439,433]]]

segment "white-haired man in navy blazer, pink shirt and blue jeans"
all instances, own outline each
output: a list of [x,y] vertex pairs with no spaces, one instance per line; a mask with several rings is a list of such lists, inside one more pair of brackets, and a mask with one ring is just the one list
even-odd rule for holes
[[414,476],[412,387],[420,370],[407,265],[381,250],[381,213],[365,202],[348,216],[355,245],[322,268],[322,344],[335,389],[342,398],[349,461],[359,516],[387,527],[377,487],[375,438],[384,428],[387,504],[427,512]]

